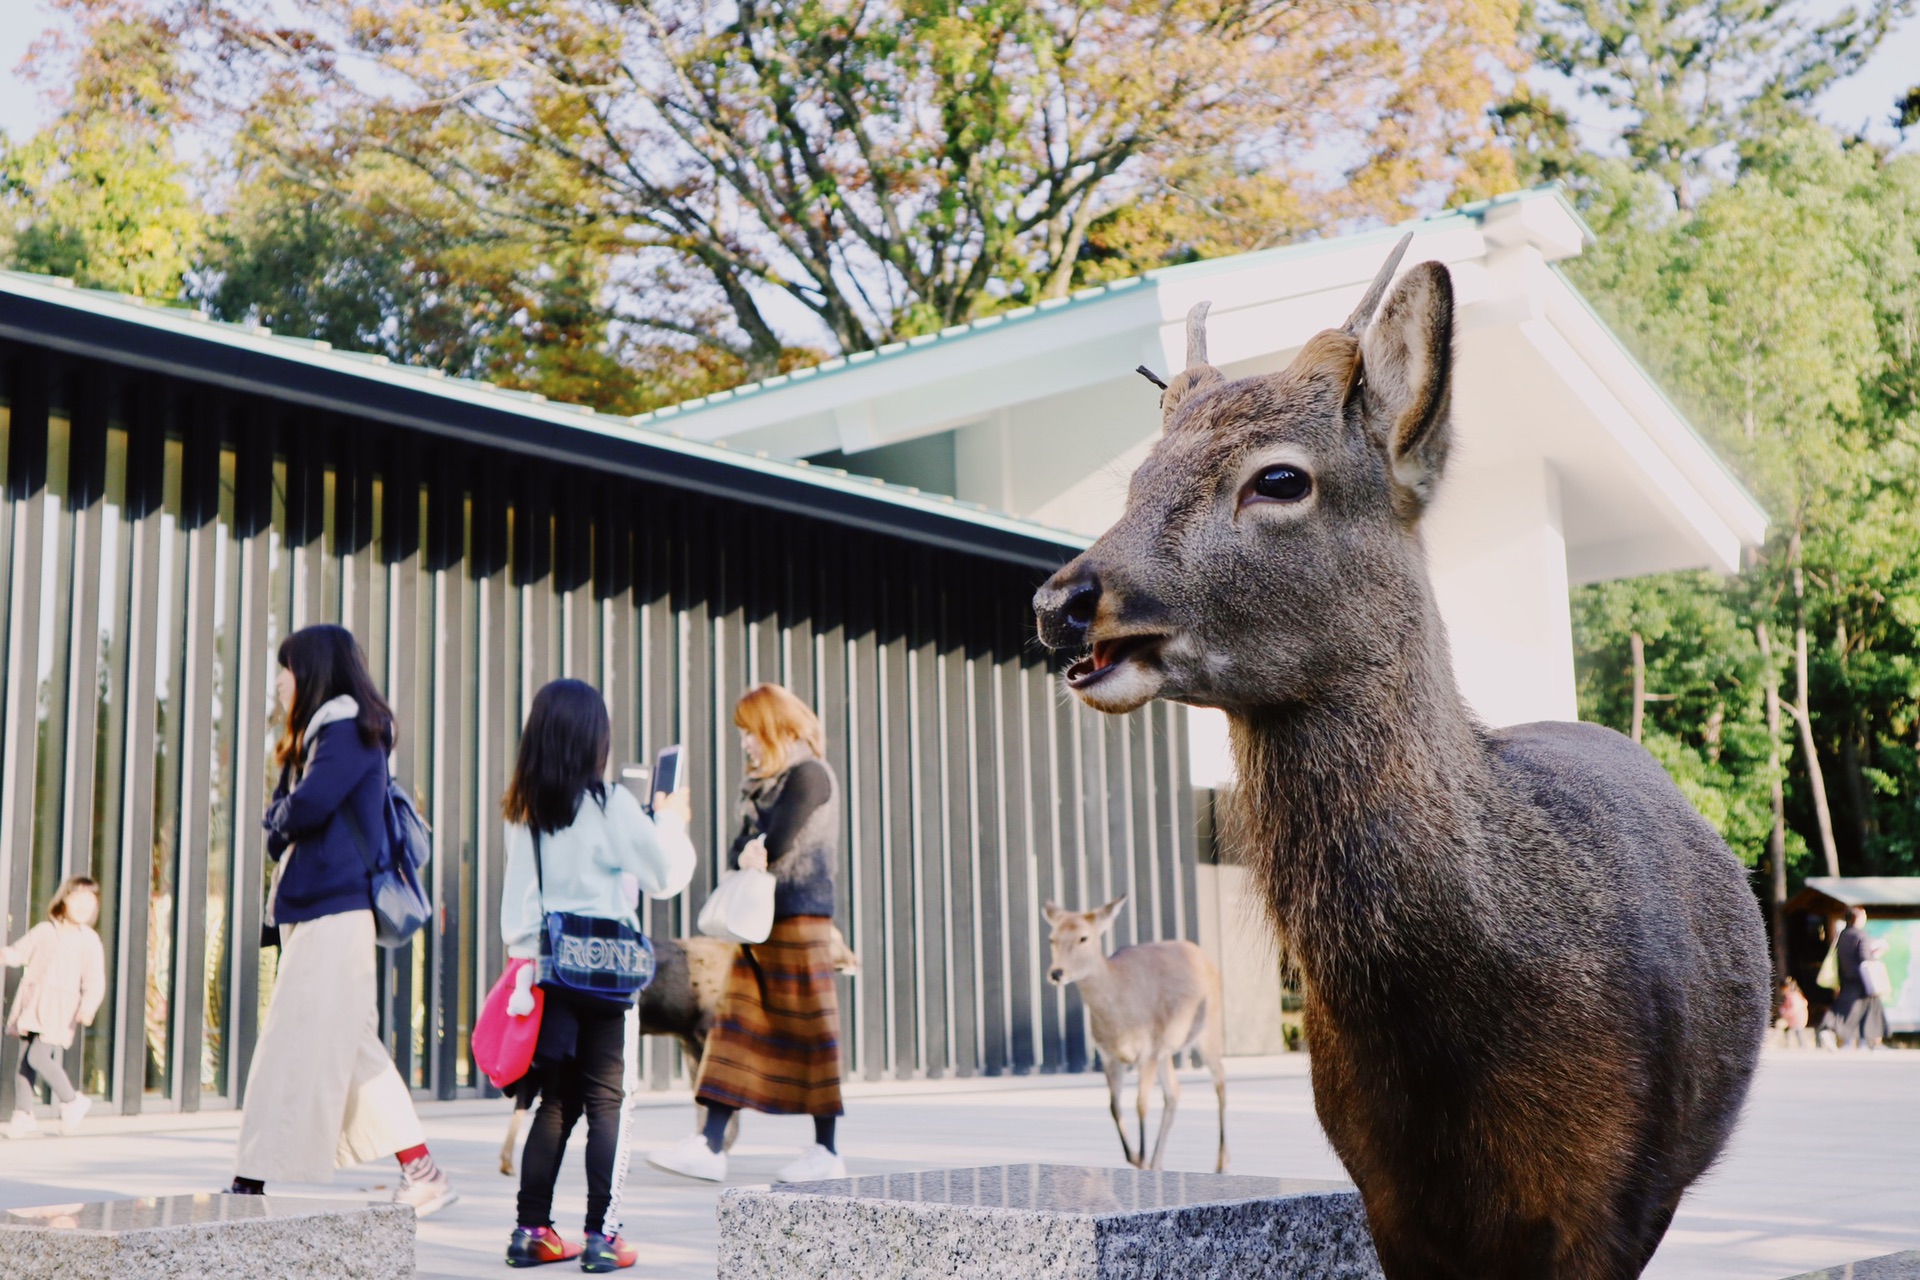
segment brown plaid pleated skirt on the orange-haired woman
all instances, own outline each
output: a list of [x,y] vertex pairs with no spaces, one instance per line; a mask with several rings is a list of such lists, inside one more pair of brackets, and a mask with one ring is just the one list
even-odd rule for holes
[[826,915],[774,921],[741,946],[693,1096],[772,1115],[841,1115],[839,990]]

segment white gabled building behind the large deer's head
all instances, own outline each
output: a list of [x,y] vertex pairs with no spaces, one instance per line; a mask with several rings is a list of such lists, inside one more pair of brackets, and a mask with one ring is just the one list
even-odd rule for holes
[[[1160,430],[1158,393],[1133,368],[1185,363],[1188,307],[1213,303],[1210,351],[1227,376],[1279,370],[1348,315],[1402,230],[1415,232],[1405,265],[1452,269],[1459,309],[1457,443],[1425,530],[1461,689],[1494,725],[1571,720],[1569,587],[1690,566],[1732,572],[1766,514],[1555,269],[1592,238],[1557,190],[1154,271],[647,424],[1094,537],[1119,514],[1127,476]],[[1194,785],[1227,781],[1223,725],[1196,714],[1192,743]],[[1219,871],[1223,904],[1238,896],[1231,873]],[[1215,946],[1236,950],[1221,931],[1238,933],[1240,915],[1215,912]],[[1248,992],[1258,996],[1248,1013],[1267,1007],[1263,990]],[[1261,1032],[1242,1048],[1267,1042]]]

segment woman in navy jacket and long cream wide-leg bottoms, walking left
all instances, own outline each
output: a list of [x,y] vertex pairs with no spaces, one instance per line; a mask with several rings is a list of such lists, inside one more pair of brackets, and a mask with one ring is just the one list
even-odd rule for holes
[[336,1167],[392,1155],[401,1171],[394,1201],[428,1217],[457,1196],[380,1042],[372,875],[361,852],[386,841],[394,712],[346,628],[301,628],[280,641],[278,660],[286,731],[263,825],[280,967],[246,1077],[230,1190],[330,1182]]

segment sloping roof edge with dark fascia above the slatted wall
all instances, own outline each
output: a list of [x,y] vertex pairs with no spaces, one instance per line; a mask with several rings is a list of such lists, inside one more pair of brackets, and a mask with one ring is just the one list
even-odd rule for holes
[[1089,543],[954,497],[684,439],[586,405],[227,324],[205,311],[83,290],[58,276],[0,271],[0,340],[1035,568],[1058,566]]

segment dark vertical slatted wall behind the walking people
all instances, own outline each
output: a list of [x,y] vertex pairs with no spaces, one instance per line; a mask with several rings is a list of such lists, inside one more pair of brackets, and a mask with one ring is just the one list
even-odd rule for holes
[[[382,1027],[422,1096],[480,1088],[499,793],[563,674],[607,691],[616,764],[687,748],[701,865],[647,910],[657,935],[724,867],[733,699],[778,679],[818,708],[862,960],[852,1077],[1087,1069],[1044,900],[1129,894],[1121,942],[1196,931],[1185,722],[1058,695],[1035,570],[35,351],[0,351],[0,892],[19,936],[60,875],[104,881],[111,998],[75,1067],[119,1111],[244,1098],[271,988],[275,647],[311,622],[361,637],[434,823],[436,923],[382,958]],[[643,1071],[685,1080],[668,1044]]]

